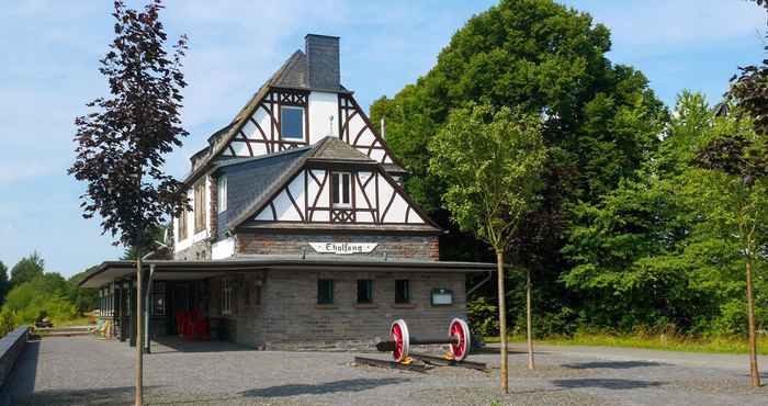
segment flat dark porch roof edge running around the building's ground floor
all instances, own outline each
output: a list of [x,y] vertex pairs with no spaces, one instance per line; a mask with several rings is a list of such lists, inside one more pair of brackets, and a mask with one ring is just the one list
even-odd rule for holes
[[[155,264],[155,280],[195,280],[229,272],[275,271],[384,271],[384,272],[487,272],[495,263],[387,259],[343,255],[242,256],[215,261],[147,260]],[[105,261],[80,282],[81,287],[100,287],[115,279],[129,279],[136,272],[134,261]]]

